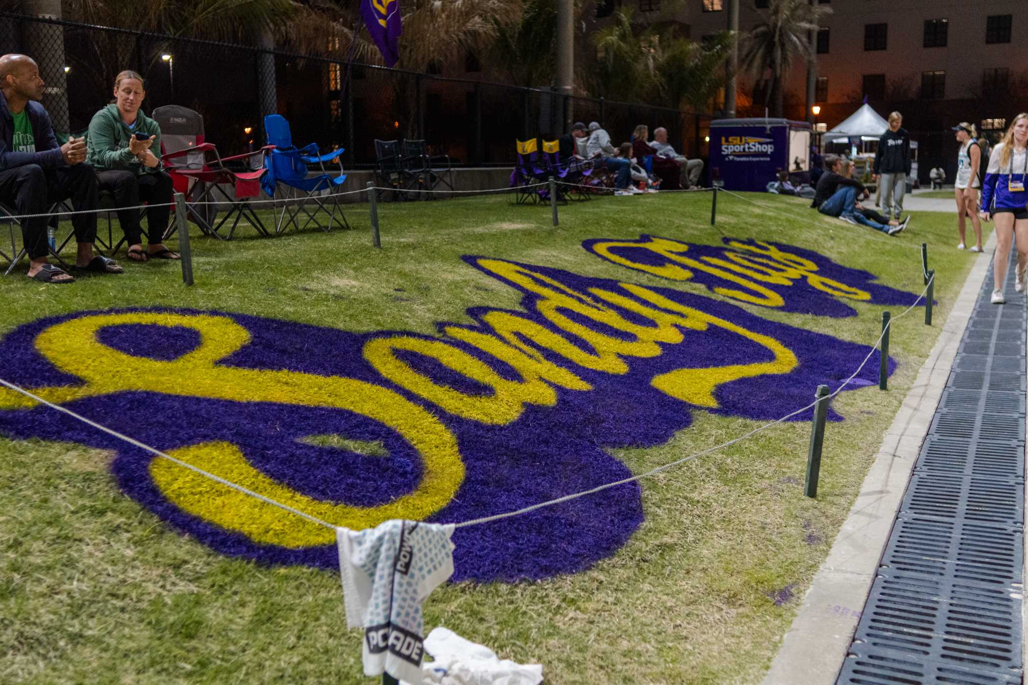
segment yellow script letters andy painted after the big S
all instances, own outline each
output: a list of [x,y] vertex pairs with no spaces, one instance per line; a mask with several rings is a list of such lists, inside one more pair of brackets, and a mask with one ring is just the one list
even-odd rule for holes
[[[482,316],[490,332],[456,326],[444,329],[447,337],[468,343],[511,366],[521,376],[520,381],[505,379],[489,364],[445,340],[390,336],[372,339],[364,346],[364,357],[382,376],[463,418],[487,424],[506,424],[517,420],[526,404],[555,405],[557,394],[553,386],[582,391],[591,389],[591,385],[582,380],[574,369],[548,360],[539,349],[527,345],[519,336],[543,350],[563,357],[573,367],[612,375],[628,372],[625,358],[658,356],[661,353],[660,343],[683,343],[686,340],[683,329],[701,333],[714,326],[766,348],[771,356],[769,361],[678,369],[653,379],[651,384],[661,392],[707,409],[718,408],[714,392],[723,383],[765,374],[787,374],[797,365],[796,355],[777,340],[681,305],[641,286],[618,283],[625,295],[596,288],[581,293],[551,276],[518,264],[491,259],[479,259],[477,263],[495,276],[539,296],[535,300],[536,310],[566,335],[558,335],[527,318],[500,311],[490,311]],[[609,305],[647,318],[652,325],[630,321]],[[579,314],[592,327],[563,312]],[[623,335],[608,335],[596,329]],[[586,347],[579,346],[572,339],[583,341]],[[491,392],[471,393],[436,382],[397,356],[397,350],[433,358],[450,371],[484,385]]]

